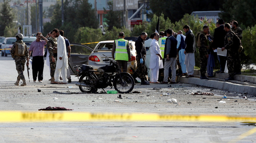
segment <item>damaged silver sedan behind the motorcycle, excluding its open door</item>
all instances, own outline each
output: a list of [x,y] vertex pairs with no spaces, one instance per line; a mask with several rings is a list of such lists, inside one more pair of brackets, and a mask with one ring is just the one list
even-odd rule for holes
[[[109,63],[103,62],[103,60],[106,59],[104,55],[112,59],[111,51],[113,43],[114,40],[101,41],[95,46],[91,55],[89,56],[89,65],[93,66],[94,70],[97,70],[99,67],[109,65]],[[127,63],[127,72],[133,74],[133,71],[137,68],[135,42],[129,41],[129,44],[131,47],[131,61]]]

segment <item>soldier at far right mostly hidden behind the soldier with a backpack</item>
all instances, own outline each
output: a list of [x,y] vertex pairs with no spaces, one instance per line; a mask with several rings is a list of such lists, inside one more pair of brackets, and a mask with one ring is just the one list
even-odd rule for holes
[[[232,22],[232,28],[233,28],[232,31],[238,36],[238,38],[240,40],[242,40],[243,30],[240,27],[238,27],[237,21]],[[241,68],[242,67],[241,67],[241,59],[240,59],[241,55],[240,54],[241,53],[238,53],[238,52],[236,53],[235,68],[234,68],[235,74],[241,74]]]

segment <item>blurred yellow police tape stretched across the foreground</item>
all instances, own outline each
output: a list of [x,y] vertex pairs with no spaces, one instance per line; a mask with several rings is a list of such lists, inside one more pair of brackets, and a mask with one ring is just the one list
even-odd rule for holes
[[156,113],[86,113],[72,111],[0,111],[0,122],[40,121],[193,121],[256,122],[256,117],[224,115],[167,115]]

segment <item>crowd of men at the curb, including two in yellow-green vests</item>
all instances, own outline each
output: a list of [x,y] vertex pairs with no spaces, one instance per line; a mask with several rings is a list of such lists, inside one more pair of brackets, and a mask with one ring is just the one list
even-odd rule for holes
[[[186,76],[186,78],[194,77],[194,53],[196,53],[196,47],[198,47],[200,55],[200,79],[208,80],[209,77],[214,77],[213,69],[215,67],[215,59],[218,59],[220,70],[217,73],[224,73],[227,62],[229,77],[225,80],[234,80],[234,75],[241,74],[241,49],[239,48],[241,47],[240,39],[242,39],[242,30],[238,27],[238,22],[234,20],[230,24],[225,24],[223,19],[219,19],[216,27],[213,37],[210,35],[209,26],[207,25],[203,26],[202,31],[198,32],[196,36],[188,25],[183,27],[185,35],[183,35],[183,31],[181,30],[176,33],[172,29],[167,29],[164,32],[159,32],[159,34],[157,32],[151,34],[150,38],[146,40],[147,33],[142,32],[135,42],[137,69],[132,75],[133,78],[136,79],[139,77],[141,79],[141,85],[149,85],[150,83],[166,84],[168,81],[170,83],[176,83],[176,76]],[[119,33],[119,38],[119,40],[114,42],[114,45],[118,41],[126,41],[124,40],[123,32]],[[119,61],[119,65],[125,67],[124,69],[126,71],[128,57],[131,56],[130,54],[128,55],[130,51],[126,50],[128,49],[126,47],[118,48],[123,49],[122,54],[127,56],[125,60],[120,60],[125,61],[126,65],[122,65]],[[217,48],[221,51],[226,49],[227,56],[218,55]],[[115,54],[119,57],[120,50],[115,50],[116,47],[113,46],[112,57],[116,59],[117,56]],[[177,74],[176,59],[179,67]],[[208,76],[206,76],[206,69]],[[145,78],[146,71],[149,81]],[[163,71],[164,77],[163,81],[159,82],[158,77],[161,71]]]

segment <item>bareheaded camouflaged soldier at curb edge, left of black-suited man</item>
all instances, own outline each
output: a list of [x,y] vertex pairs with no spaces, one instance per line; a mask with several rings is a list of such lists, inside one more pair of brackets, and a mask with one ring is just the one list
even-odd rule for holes
[[208,63],[208,52],[207,50],[209,49],[209,42],[207,41],[206,34],[208,33],[209,26],[203,26],[203,31],[198,36],[197,39],[197,46],[198,46],[198,51],[200,55],[200,72],[201,72],[201,77],[200,79],[209,79],[206,77],[206,67]]

